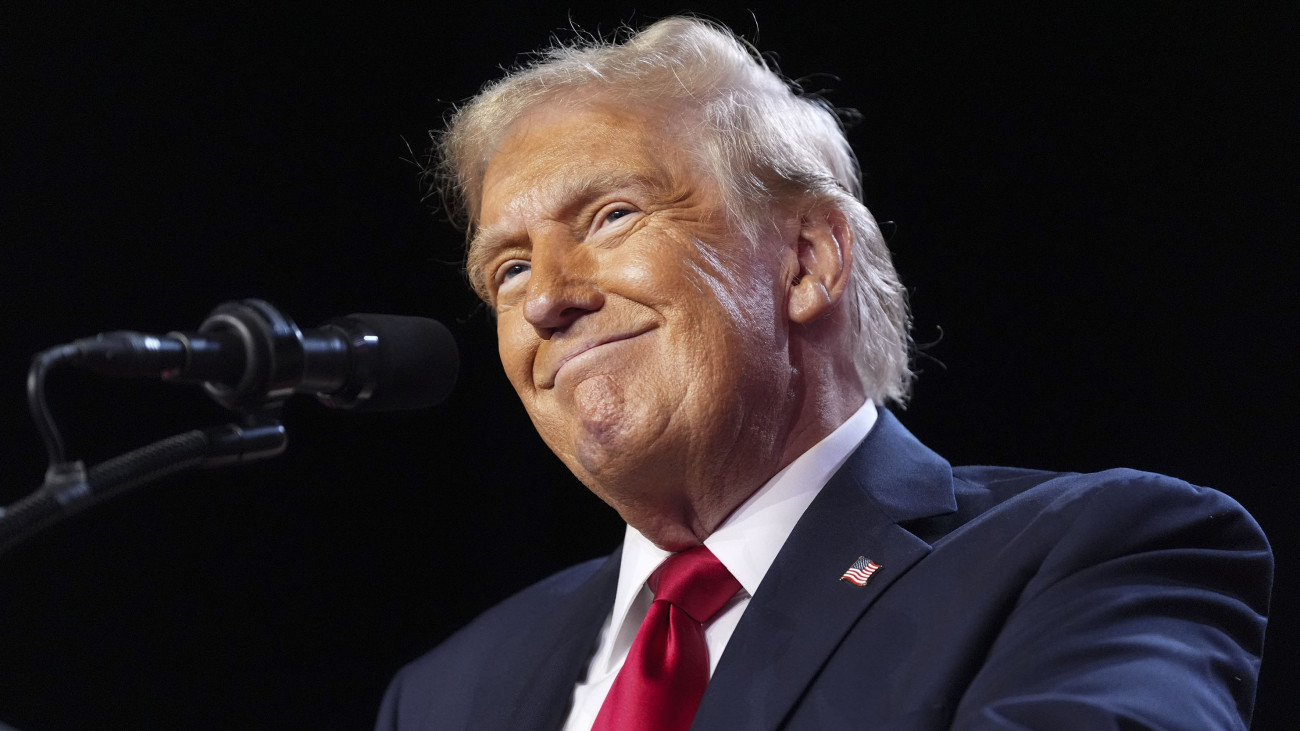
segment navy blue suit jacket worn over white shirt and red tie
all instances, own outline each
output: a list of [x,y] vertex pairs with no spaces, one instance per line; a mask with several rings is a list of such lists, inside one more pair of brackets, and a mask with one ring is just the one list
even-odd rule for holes
[[[864,555],[866,587],[840,581]],[[619,554],[489,610],[393,680],[381,730],[559,728]],[[888,412],[800,519],[693,728],[1244,728],[1273,562],[1158,475],[950,467]]]

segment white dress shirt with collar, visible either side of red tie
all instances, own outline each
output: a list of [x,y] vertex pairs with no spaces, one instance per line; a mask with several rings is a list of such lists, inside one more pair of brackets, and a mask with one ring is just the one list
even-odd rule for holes
[[[718,659],[740,623],[741,614],[749,606],[750,597],[758,591],[794,524],[875,423],[876,407],[867,401],[848,421],[786,464],[705,538],[708,550],[741,585],[736,596],[705,626],[710,676],[718,667]],[[604,696],[628,658],[637,630],[654,601],[646,579],[670,555],[672,554],[628,525],[623,537],[623,562],[619,565],[614,609],[601,627],[601,641],[586,667],[586,675],[573,687],[573,704],[564,731],[590,731],[595,723]]]

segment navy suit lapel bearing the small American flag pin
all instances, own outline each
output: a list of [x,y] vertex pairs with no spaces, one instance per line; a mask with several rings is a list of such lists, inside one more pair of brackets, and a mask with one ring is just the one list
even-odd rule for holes
[[[776,728],[876,597],[930,553],[898,523],[956,509],[949,464],[881,411],[763,578],[693,728]],[[859,555],[880,568],[864,587],[838,580]]]

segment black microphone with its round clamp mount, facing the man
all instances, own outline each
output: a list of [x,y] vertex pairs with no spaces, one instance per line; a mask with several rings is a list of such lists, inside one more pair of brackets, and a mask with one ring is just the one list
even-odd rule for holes
[[196,332],[118,330],[70,343],[72,360],[113,376],[202,382],[233,411],[311,393],[335,408],[398,411],[442,402],[456,382],[456,341],[441,323],[347,315],[300,330],[260,299],[218,306]]

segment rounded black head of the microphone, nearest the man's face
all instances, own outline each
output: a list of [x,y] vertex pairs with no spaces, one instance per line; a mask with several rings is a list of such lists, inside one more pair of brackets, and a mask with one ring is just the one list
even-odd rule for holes
[[[352,411],[403,411],[441,403],[456,385],[460,355],[451,330],[437,320],[355,313],[329,323],[348,334],[358,360],[367,360],[368,393],[355,401],[317,394],[326,406]],[[350,402],[351,401],[351,402]]]

